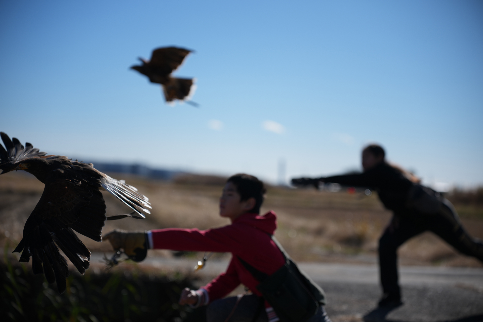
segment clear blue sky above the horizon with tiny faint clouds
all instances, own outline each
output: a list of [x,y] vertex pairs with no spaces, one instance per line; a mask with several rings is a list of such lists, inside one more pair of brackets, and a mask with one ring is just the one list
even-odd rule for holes
[[[164,103],[129,67],[196,50]],[[483,184],[483,1],[0,1],[0,130],[85,161],[272,182],[381,143],[425,182]]]

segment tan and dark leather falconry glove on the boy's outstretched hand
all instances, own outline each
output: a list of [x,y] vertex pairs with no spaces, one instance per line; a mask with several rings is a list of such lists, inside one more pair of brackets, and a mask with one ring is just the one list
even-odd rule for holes
[[104,235],[109,240],[114,251],[123,250],[130,259],[141,262],[148,252],[148,234],[145,232],[113,230]]

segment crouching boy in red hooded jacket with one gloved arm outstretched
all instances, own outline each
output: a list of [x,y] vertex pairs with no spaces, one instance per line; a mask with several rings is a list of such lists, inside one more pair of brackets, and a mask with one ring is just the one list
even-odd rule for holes
[[[195,252],[231,252],[233,257],[225,273],[199,290],[186,288],[179,303],[194,308],[208,305],[208,322],[268,321],[279,318],[267,301],[260,300],[258,280],[243,266],[239,258],[257,270],[271,275],[284,266],[284,256],[270,235],[277,228],[273,211],[259,215],[265,188],[256,177],[236,174],[225,184],[220,197],[220,216],[231,224],[214,229],[154,229],[148,232],[113,231],[104,238],[114,250],[123,249],[134,260],[145,258],[148,248]],[[252,294],[223,298],[242,283]],[[321,301],[310,322],[330,322]],[[263,310],[263,308],[265,308]]]

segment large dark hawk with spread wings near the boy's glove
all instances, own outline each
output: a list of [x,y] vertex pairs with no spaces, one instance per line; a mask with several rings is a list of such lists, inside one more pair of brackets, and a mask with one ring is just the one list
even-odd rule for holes
[[6,148],[0,144],[0,174],[25,170],[45,184],[14,252],[22,252],[21,262],[28,263],[31,256],[33,273],[43,273],[49,283],[57,281],[57,289],[63,293],[69,269],[57,246],[79,273],[84,274],[91,253],[72,230],[96,241],[102,240],[106,205],[99,189],[109,191],[134,210],[129,215],[113,216],[116,218],[112,219],[144,218],[143,212],[150,213],[148,198],[124,181],[96,170],[92,163],[72,161],[61,155],[45,155],[30,143],[24,147],[19,140],[10,140],[3,132],[0,136]]

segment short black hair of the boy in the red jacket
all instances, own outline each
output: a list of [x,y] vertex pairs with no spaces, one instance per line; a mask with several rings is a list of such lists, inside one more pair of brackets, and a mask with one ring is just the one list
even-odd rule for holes
[[228,178],[227,182],[233,183],[237,187],[240,195],[240,201],[246,201],[255,198],[255,206],[249,212],[260,213],[260,207],[263,203],[263,195],[266,190],[263,182],[257,177],[245,173],[238,173]]

